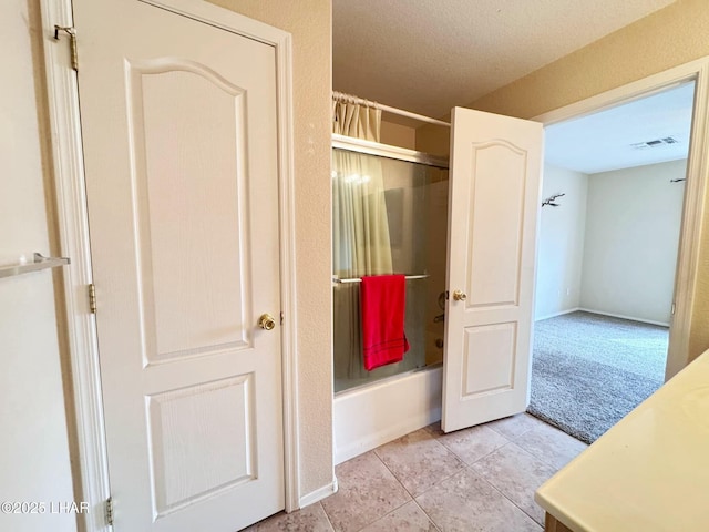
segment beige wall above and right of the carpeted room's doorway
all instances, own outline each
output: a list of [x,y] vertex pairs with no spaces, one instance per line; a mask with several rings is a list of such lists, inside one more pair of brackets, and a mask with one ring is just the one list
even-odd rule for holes
[[[707,35],[707,0],[678,0],[466,106],[523,119],[537,116],[709,55]],[[446,142],[446,134],[431,127],[417,130],[420,150],[442,150]],[[691,358],[709,348],[709,213],[703,225]]]

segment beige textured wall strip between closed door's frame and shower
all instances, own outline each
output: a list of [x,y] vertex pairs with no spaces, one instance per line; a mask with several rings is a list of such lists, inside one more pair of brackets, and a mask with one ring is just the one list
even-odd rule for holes
[[332,482],[330,0],[212,0],[294,39],[300,492]]

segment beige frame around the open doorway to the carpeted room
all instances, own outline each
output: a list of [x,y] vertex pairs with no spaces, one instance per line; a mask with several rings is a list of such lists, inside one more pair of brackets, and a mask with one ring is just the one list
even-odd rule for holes
[[[580,117],[695,81],[695,106],[687,160],[687,188],[675,274],[675,315],[670,321],[665,379],[690,360],[689,332],[699,272],[699,248],[709,178],[709,57],[628,83],[533,117],[544,126]],[[544,178],[544,177],[543,177]]]

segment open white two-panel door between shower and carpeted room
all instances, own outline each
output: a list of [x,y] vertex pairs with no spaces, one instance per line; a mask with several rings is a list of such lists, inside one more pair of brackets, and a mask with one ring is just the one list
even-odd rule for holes
[[455,108],[443,431],[526,409],[542,124]]

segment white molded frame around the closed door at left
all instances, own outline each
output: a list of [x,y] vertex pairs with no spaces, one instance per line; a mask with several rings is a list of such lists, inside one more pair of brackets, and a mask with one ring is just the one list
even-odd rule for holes
[[[136,0],[138,1],[138,0]],[[227,9],[201,0],[140,0],[187,16],[274,48],[276,55],[278,193],[280,231],[284,472],[286,511],[300,507],[298,364],[295,268],[295,166],[292,129],[292,40],[290,33]],[[76,500],[89,504],[82,514],[88,532],[110,530],[105,501],[111,495],[104,418],[99,370],[95,318],[89,308],[88,285],[93,283],[89,217],[86,212],[83,146],[76,72],[71,68],[70,45],[65,35],[54,39],[54,24],[73,27],[72,0],[41,0],[44,74],[59,247],[71,265],[62,268],[63,319],[71,359],[75,417],[74,448],[78,457],[72,468]],[[81,39],[81,34],[78,35]],[[79,58],[81,68],[81,58]],[[61,296],[60,296],[61,297]],[[99,301],[101,306],[101,301]],[[99,310],[100,311],[100,310]],[[75,477],[80,477],[76,481]]]

